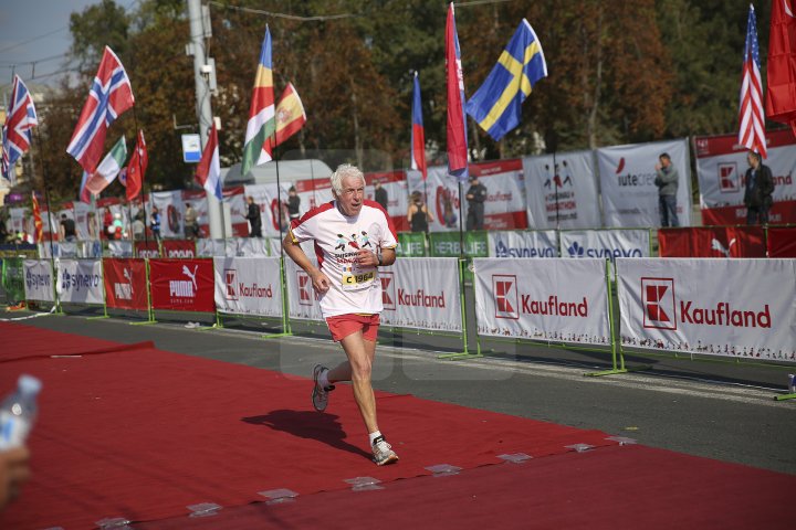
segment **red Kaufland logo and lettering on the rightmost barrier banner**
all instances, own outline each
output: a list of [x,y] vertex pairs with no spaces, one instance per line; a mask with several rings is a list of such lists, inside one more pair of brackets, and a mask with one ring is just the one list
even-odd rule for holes
[[703,307],[699,301],[678,300],[673,278],[641,278],[641,303],[645,328],[675,330],[679,324],[725,326],[733,328],[771,328],[768,304],[762,310],[739,309],[729,301]]

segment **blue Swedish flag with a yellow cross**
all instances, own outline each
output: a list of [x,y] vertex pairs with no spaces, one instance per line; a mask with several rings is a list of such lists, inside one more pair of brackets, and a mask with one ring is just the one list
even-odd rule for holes
[[522,103],[547,77],[547,63],[533,28],[523,19],[481,88],[467,103],[467,113],[495,140],[520,125]]

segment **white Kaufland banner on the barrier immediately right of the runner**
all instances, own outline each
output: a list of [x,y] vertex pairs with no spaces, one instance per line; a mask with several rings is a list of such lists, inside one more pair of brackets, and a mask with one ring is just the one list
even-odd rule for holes
[[459,259],[416,257],[379,268],[381,324],[433,331],[461,331]]

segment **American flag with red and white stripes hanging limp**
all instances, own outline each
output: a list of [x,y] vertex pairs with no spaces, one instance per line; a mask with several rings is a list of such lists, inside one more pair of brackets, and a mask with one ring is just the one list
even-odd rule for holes
[[739,144],[766,157],[765,110],[763,109],[763,81],[760,75],[760,47],[754,7],[750,4],[746,22],[746,45],[741,81],[739,110]]

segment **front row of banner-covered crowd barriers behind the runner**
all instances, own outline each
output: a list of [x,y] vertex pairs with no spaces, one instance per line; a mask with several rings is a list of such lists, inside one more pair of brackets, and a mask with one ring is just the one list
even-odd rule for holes
[[[509,339],[610,352],[609,373],[625,371],[626,349],[796,362],[796,261],[612,263],[475,257],[475,354],[482,339]],[[469,354],[464,264],[418,257],[380,268],[384,326],[461,337]],[[219,325],[222,315],[281,318],[284,332],[291,320],[323,322],[310,277],[279,257],[18,258],[2,271],[4,287],[23,278],[25,299],[56,307],[102,304],[106,315],[136,310],[147,321],[155,311],[214,314]]]

